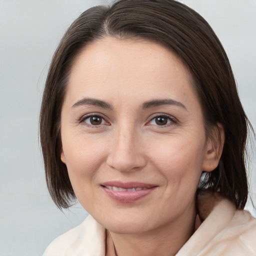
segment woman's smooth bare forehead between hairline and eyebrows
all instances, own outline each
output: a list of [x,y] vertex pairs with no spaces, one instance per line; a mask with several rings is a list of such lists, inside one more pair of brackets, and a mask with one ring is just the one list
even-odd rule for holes
[[66,96],[165,98],[168,92],[172,98],[196,95],[190,72],[173,52],[148,40],[106,37],[76,56]]

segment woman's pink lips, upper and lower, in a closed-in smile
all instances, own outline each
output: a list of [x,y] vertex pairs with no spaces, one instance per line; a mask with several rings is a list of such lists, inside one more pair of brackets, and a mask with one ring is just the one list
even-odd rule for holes
[[[110,187],[121,187],[124,189],[131,189],[131,188],[142,188],[141,190],[135,191],[119,191],[109,189],[106,186]],[[142,183],[142,182],[120,182],[120,181],[108,181],[101,184],[102,189],[111,199],[123,202],[123,203],[130,203],[135,202],[147,195],[149,195],[156,187],[155,184],[149,183]]]

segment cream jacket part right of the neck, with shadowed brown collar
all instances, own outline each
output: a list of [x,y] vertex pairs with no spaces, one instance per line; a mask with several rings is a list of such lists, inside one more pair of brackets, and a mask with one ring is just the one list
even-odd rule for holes
[[199,198],[202,223],[177,256],[256,256],[256,219],[218,195]]

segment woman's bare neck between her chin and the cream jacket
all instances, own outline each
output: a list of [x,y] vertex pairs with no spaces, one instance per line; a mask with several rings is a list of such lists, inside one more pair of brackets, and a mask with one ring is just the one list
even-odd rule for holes
[[150,231],[135,234],[107,232],[106,256],[175,255],[194,231],[195,210]]

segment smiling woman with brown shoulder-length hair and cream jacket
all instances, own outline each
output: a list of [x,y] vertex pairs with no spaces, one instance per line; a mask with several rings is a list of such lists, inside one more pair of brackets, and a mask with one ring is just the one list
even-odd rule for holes
[[86,10],[53,56],[40,138],[53,201],[90,215],[43,255],[255,255],[248,126],[198,13],[173,0]]

